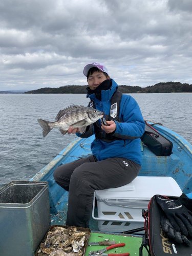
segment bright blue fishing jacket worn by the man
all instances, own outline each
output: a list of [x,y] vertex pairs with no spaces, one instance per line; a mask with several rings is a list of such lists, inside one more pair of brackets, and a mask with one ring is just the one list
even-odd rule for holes
[[[111,79],[112,86],[109,90],[101,91],[101,100],[95,94],[88,94],[95,103],[95,108],[110,115],[111,98],[118,88],[118,84]],[[120,140],[105,142],[102,139],[95,139],[91,144],[91,151],[98,161],[111,157],[122,157],[130,159],[141,165],[141,140],[144,133],[145,123],[136,100],[123,94],[119,108],[119,120],[115,121],[116,130],[113,136]],[[99,120],[100,121],[100,120]],[[94,134],[94,125],[88,126],[84,134],[76,133],[78,137],[87,138]]]

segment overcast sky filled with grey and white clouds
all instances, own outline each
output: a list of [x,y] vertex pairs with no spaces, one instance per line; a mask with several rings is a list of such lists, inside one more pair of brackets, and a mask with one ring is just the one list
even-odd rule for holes
[[130,86],[192,83],[191,0],[1,0],[0,91],[87,84],[105,63]]

